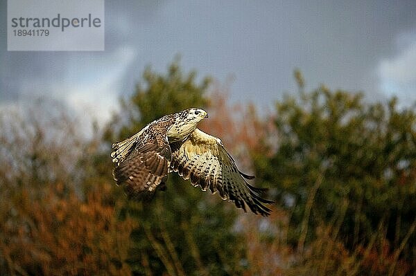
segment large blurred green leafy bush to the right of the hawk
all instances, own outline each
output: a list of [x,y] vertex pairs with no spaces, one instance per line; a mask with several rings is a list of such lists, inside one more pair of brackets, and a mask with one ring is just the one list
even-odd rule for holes
[[[297,74],[300,82],[302,77]],[[303,80],[302,87],[303,88]],[[254,154],[264,185],[291,212],[288,241],[303,250],[329,225],[347,248],[381,235],[415,259],[416,113],[324,86],[276,106],[277,150]],[[262,184],[263,185],[263,184]]]

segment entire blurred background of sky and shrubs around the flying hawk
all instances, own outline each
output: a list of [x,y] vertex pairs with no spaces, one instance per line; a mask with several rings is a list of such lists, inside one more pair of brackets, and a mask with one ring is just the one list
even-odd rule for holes
[[[105,1],[105,51],[7,51],[1,275],[416,275],[415,1]],[[111,144],[202,107],[270,217]]]

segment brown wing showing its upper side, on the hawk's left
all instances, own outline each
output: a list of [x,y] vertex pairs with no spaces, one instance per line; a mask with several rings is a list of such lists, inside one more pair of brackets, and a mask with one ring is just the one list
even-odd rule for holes
[[151,199],[157,186],[166,182],[172,158],[166,132],[171,124],[155,121],[139,134],[114,143],[114,180],[123,185],[129,198]]

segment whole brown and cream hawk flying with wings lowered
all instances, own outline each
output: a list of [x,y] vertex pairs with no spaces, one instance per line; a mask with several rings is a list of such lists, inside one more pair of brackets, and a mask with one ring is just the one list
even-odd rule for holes
[[248,205],[255,214],[267,216],[270,209],[261,198],[266,189],[245,181],[243,174],[219,138],[197,129],[208,118],[202,109],[186,109],[150,122],[134,136],[112,145],[114,180],[123,185],[129,198],[151,199],[157,187],[166,188],[168,173],[177,172],[203,191],[218,192],[237,208]]

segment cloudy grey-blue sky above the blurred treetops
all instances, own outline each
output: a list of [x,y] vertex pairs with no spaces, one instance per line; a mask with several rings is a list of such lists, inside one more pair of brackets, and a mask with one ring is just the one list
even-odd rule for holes
[[230,100],[271,109],[306,88],[416,100],[416,1],[105,1],[105,51],[7,51],[0,1],[0,109],[62,101],[101,121],[134,91],[144,67],[233,77]]

